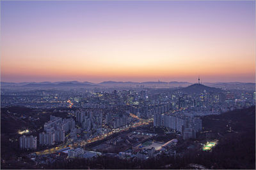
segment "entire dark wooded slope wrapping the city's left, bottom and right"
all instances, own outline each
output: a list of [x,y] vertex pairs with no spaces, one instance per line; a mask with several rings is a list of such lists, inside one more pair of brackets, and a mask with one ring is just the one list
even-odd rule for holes
[[[6,111],[17,113],[9,114]],[[1,125],[13,126],[13,129],[1,128],[1,168],[2,169],[37,169],[41,168],[28,159],[19,150],[17,130],[22,127],[31,128],[27,119],[15,120],[20,114],[32,116],[38,111],[28,108],[2,108]],[[61,116],[63,113],[54,113]],[[19,116],[18,116],[19,115]],[[42,117],[40,117],[42,115]],[[41,113],[41,124],[48,120],[50,113]],[[212,152],[202,150],[186,150],[184,157],[176,159],[168,155],[161,155],[150,160],[122,160],[116,157],[98,157],[96,159],[59,160],[54,164],[44,166],[44,169],[191,169],[189,164],[201,164],[207,169],[255,169],[255,107],[234,110],[221,115],[211,115],[203,118],[204,131],[200,134],[200,141],[218,139],[219,143]],[[231,131],[230,131],[231,127]],[[211,134],[211,135],[207,135]],[[12,141],[9,141],[11,139]],[[193,141],[192,141],[193,142]],[[17,160],[23,158],[24,162]],[[3,163],[4,160],[6,163]],[[8,164],[11,163],[11,166]],[[168,165],[168,166],[166,166]]]

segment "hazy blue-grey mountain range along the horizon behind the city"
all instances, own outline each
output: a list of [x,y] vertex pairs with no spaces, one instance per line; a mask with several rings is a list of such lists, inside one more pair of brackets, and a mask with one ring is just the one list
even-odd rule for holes
[[[216,83],[203,83],[206,87],[237,90],[255,90],[255,83],[241,83],[241,82],[216,82]],[[9,83],[1,81],[1,87],[156,87],[156,88],[178,88],[189,87],[193,83],[186,81],[145,81],[145,82],[132,82],[132,81],[103,81],[101,83],[91,83],[88,81],[43,81],[43,82],[22,82],[22,83]],[[194,84],[196,85],[196,84]],[[193,86],[189,87],[193,90]],[[184,89],[186,90],[186,89]]]

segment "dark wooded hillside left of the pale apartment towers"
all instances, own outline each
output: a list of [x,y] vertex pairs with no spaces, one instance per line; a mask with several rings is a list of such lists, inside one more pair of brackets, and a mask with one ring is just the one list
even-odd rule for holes
[[[67,117],[67,113],[52,113],[51,110],[42,111],[20,106],[1,108],[1,169],[38,169],[35,162],[25,156],[27,152],[19,149],[19,137],[22,135],[18,132],[29,129],[29,134],[26,135],[38,136],[50,115]],[[19,157],[26,164],[18,160]]]

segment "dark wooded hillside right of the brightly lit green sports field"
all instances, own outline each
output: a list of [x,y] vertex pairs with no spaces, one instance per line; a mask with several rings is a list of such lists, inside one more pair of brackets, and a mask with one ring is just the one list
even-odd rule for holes
[[205,154],[216,161],[215,169],[255,169],[255,106],[204,117],[203,126],[220,134],[219,144]]

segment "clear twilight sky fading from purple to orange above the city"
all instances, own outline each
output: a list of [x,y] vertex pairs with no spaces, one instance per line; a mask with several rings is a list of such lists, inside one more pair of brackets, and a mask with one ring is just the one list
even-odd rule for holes
[[1,81],[255,82],[255,1],[1,1]]

